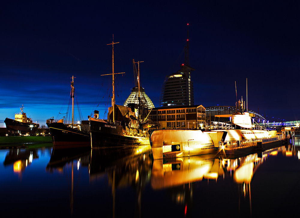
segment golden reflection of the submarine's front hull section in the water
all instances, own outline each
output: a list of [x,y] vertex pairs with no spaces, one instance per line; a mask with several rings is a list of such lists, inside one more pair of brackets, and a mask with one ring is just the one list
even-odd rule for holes
[[151,186],[170,188],[205,179],[217,179],[219,159],[215,154],[154,160]]

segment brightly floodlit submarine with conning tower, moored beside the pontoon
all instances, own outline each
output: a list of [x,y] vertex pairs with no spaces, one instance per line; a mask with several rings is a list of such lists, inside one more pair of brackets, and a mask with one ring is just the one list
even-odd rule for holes
[[[259,146],[259,143],[275,142],[278,137],[261,126],[252,129],[251,117],[254,114],[244,112],[243,104],[237,102],[234,114],[215,115],[229,118],[235,129],[192,130],[192,129],[157,129],[150,135],[153,158],[179,158],[193,155],[218,153],[223,149],[240,146]],[[213,134],[215,132],[217,134]]]

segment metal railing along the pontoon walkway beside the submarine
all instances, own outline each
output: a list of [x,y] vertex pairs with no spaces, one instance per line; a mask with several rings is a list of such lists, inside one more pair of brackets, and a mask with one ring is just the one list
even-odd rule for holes
[[265,143],[270,143],[270,142],[280,141],[280,140],[283,140],[282,135],[277,135],[277,136],[268,137],[268,138],[251,138],[251,139],[243,139],[243,140],[230,140],[230,141],[224,141],[224,143],[226,143],[226,146],[224,149],[236,150],[236,149],[240,149],[240,148],[257,146],[257,142],[262,142],[262,144],[265,144]]

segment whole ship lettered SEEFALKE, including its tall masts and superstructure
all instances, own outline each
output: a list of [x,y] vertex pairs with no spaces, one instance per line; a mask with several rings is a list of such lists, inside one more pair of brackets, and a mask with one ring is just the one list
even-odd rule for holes
[[[116,43],[112,42],[112,47],[114,44]],[[147,124],[147,121],[149,121],[147,120],[147,117],[150,113],[148,113],[148,108],[143,107],[141,102],[139,102],[139,104],[128,104],[127,106],[115,104],[116,73],[114,73],[114,50],[112,60],[113,73],[105,74],[113,76],[112,106],[109,107],[107,120],[99,119],[98,114],[96,114],[97,111],[95,111],[94,117],[89,117],[91,147],[99,148],[149,145],[149,127],[151,125]],[[139,81],[140,80],[138,78],[138,87],[140,88]],[[145,114],[148,113],[148,115],[143,117],[143,112]]]

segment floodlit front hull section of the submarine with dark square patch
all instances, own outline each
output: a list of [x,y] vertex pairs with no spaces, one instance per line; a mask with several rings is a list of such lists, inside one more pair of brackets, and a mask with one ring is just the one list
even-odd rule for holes
[[216,153],[226,132],[189,129],[158,129],[150,135],[153,158],[176,158]]

